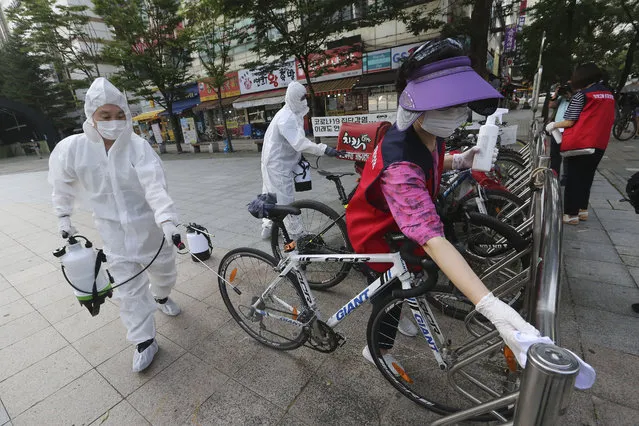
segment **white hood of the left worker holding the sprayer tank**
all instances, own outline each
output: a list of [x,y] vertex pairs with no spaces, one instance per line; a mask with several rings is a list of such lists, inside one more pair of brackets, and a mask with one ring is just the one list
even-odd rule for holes
[[127,128],[122,132],[117,140],[122,139],[123,136],[130,137],[133,132],[133,121],[131,120],[131,110],[129,104],[126,101],[126,96],[120,92],[109,80],[104,77],[96,78],[87,94],[84,97],[84,114],[87,119],[82,125],[84,133],[87,135],[91,142],[102,142],[102,136],[96,130],[93,122],[93,113],[102,105],[111,104],[120,107],[126,116]]

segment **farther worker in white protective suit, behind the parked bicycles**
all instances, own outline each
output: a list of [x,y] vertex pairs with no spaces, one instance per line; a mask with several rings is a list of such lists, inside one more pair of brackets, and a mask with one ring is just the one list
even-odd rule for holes
[[[324,143],[316,144],[304,134],[304,116],[308,114],[306,88],[294,81],[286,89],[284,107],[275,114],[264,135],[262,146],[262,192],[277,195],[278,204],[295,201],[293,170],[302,153],[337,156],[335,148]],[[271,237],[272,222],[262,219],[262,238]],[[302,234],[302,222],[298,216],[287,216],[286,228],[293,239]]]

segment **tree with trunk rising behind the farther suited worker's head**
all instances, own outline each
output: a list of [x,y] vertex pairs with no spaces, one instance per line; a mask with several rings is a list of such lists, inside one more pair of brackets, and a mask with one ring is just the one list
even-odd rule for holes
[[[295,58],[304,72],[311,97],[311,111],[317,115],[315,89],[311,75],[330,72],[337,65],[356,61],[352,53],[361,51],[354,45],[341,52],[340,64],[327,63],[326,43],[347,31],[372,27],[397,17],[403,0],[220,0],[225,10],[235,10],[251,18],[257,35],[252,49],[260,61],[247,64],[266,73]],[[370,4],[369,4],[370,3]],[[265,64],[266,63],[266,64]]]

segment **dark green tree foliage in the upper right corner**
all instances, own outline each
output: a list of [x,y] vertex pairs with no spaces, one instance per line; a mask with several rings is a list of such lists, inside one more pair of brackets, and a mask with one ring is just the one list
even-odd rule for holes
[[517,41],[522,49],[517,65],[524,78],[532,80],[545,31],[543,88],[558,80],[567,81],[574,67],[584,62],[596,62],[613,85],[623,85],[628,73],[639,71],[633,61],[628,64],[630,68],[626,66],[627,55],[637,48],[633,44],[637,38],[633,22],[639,17],[638,2],[540,0],[528,15],[532,23],[524,27]]

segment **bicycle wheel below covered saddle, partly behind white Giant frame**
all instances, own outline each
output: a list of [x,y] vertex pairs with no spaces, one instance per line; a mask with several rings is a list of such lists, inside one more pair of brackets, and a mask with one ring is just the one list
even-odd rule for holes
[[[314,200],[299,200],[291,204],[302,210],[299,220],[302,223],[302,235],[296,238],[299,254],[346,254],[353,249],[346,233],[343,215],[326,204]],[[295,238],[291,236],[291,238]],[[285,254],[284,234],[279,226],[273,224],[271,230],[271,249],[276,259]],[[313,262],[303,264],[306,279],[311,288],[325,290],[346,278],[351,263]]]

